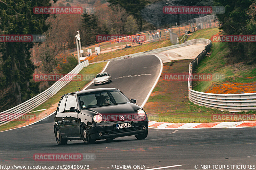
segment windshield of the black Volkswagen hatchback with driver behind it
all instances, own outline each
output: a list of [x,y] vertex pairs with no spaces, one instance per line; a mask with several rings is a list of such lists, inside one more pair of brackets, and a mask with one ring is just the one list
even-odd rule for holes
[[79,95],[82,109],[130,103],[119,90],[104,90]]

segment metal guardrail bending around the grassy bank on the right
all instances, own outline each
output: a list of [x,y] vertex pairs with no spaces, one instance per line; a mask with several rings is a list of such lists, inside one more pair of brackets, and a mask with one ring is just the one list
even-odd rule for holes
[[230,112],[240,112],[256,110],[256,93],[240,93],[240,94],[213,94],[192,90],[191,74],[203,59],[205,54],[210,51],[212,43],[209,39],[202,39],[207,44],[205,50],[199,54],[189,64],[188,79],[188,98],[191,102],[200,106],[210,107],[219,110],[228,110]]

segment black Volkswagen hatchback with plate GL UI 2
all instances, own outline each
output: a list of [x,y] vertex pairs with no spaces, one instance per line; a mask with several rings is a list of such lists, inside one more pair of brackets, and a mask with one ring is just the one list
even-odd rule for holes
[[98,139],[113,140],[135,135],[148,136],[148,117],[136,103],[115,88],[81,90],[61,97],[54,117],[58,145],[82,139],[85,144]]

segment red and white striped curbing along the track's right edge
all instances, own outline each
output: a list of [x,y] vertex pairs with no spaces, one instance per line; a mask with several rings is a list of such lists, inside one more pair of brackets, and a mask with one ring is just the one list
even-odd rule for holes
[[243,128],[256,127],[256,121],[213,123],[166,123],[148,121],[148,127],[159,129]]

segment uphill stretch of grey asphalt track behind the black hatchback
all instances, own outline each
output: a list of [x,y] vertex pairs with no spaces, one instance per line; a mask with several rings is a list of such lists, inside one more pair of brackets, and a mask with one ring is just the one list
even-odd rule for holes
[[104,72],[112,77],[109,84],[90,85],[87,89],[117,88],[141,105],[159,74],[161,65],[155,55],[111,61]]

